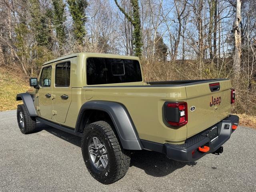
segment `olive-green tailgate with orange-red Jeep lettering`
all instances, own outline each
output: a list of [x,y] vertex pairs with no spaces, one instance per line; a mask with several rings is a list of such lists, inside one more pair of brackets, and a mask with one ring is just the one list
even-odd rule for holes
[[[210,90],[209,84],[214,83],[215,85],[220,83],[220,90],[213,90],[214,92]],[[187,138],[218,123],[230,114],[230,89],[230,80],[186,86],[188,103]]]

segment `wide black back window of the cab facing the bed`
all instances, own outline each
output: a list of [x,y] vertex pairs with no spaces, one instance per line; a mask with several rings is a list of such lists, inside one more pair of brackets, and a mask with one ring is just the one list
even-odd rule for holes
[[88,85],[142,81],[140,64],[137,60],[88,58],[86,69]]

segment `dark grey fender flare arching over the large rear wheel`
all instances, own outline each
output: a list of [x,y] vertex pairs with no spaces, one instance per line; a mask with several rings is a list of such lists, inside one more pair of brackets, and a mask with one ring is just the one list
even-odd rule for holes
[[83,114],[86,110],[100,110],[108,113],[110,116],[124,149],[142,150],[144,147],[140,141],[132,118],[128,110],[120,103],[111,101],[88,101],[84,103],[78,114],[75,132],[78,132],[81,126]]

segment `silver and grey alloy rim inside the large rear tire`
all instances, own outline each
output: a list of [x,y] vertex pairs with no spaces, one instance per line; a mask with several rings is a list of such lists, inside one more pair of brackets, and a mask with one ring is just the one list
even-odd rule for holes
[[91,163],[100,171],[108,165],[108,152],[106,146],[98,137],[93,137],[89,141],[88,152]]

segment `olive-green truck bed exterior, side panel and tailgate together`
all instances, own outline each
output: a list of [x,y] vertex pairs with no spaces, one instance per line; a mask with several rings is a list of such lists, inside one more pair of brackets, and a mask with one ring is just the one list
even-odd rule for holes
[[[220,90],[211,92],[209,84],[216,82],[220,83]],[[230,80],[213,79],[88,85],[82,92],[84,98],[90,100],[123,104],[140,138],[158,143],[182,143],[230,114],[230,88]],[[212,98],[217,97],[222,98],[221,104],[211,107]],[[177,101],[188,104],[188,123],[180,128],[168,125],[163,116],[164,103]],[[193,112],[192,106],[196,108]]]

